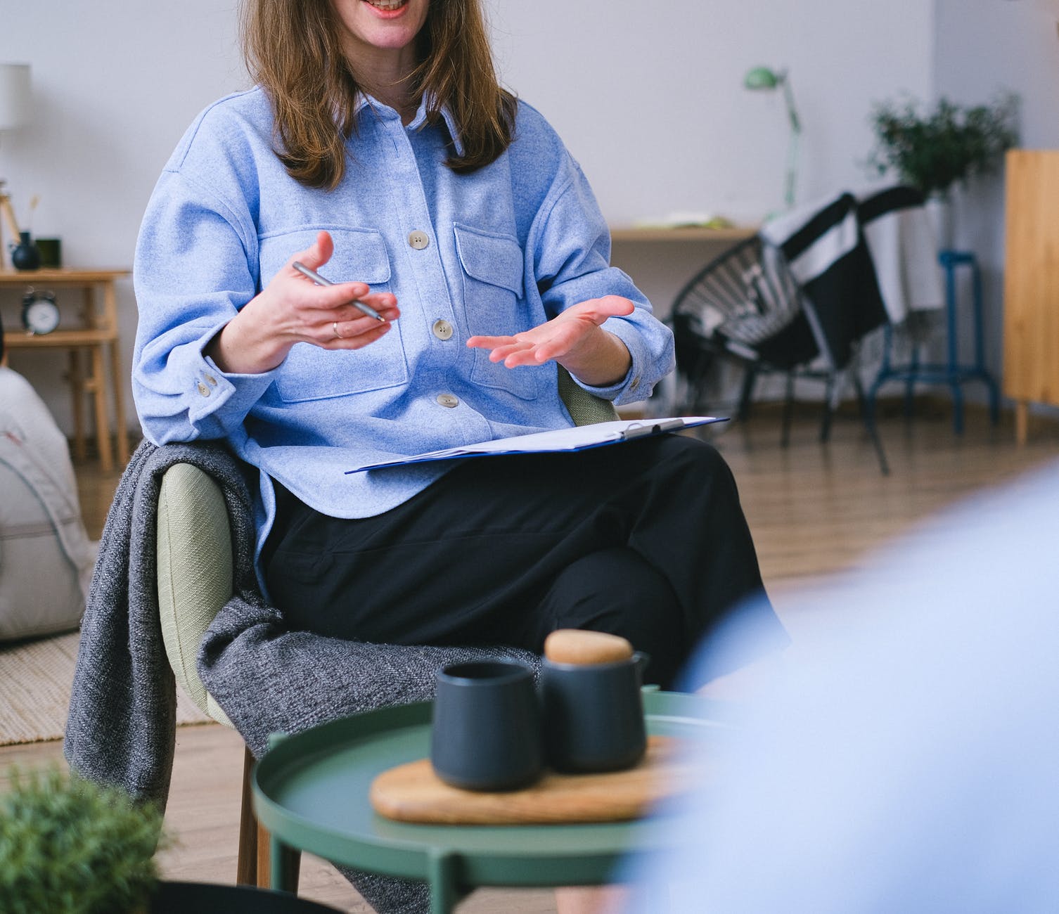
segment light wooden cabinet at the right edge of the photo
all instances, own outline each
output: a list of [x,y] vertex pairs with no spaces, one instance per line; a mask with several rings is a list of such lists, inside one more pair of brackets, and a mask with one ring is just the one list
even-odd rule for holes
[[1004,394],[1026,440],[1028,405],[1059,406],[1059,149],[1007,154]]

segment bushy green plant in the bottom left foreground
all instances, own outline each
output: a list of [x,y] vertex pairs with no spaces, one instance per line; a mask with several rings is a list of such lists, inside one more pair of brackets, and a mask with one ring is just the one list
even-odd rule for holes
[[12,773],[0,794],[4,914],[126,914],[147,908],[162,813],[58,769]]

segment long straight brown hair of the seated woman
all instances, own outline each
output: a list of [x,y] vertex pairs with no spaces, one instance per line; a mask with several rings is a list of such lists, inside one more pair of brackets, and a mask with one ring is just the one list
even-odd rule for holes
[[[330,0],[244,0],[243,54],[275,115],[276,155],[310,187],[334,190],[345,174],[345,140],[356,132],[359,89],[339,39]],[[515,96],[497,82],[480,0],[432,0],[416,36],[414,97],[426,94],[428,120],[448,106],[463,155],[446,161],[466,174],[510,145]]]

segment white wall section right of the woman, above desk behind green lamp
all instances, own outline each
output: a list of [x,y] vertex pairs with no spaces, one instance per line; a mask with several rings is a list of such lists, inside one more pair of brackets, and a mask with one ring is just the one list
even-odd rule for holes
[[927,0],[491,0],[501,73],[584,166],[613,225],[671,211],[759,220],[783,203],[788,68],[800,196],[863,183],[873,98],[931,80]]

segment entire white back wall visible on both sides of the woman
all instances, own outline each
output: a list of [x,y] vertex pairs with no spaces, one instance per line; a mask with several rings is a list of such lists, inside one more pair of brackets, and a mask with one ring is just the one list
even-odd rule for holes
[[[790,69],[805,127],[798,194],[808,199],[864,181],[873,101],[902,91],[929,96],[948,58],[959,56],[955,38],[941,34],[948,24],[935,33],[935,5],[946,23],[966,7],[965,25],[985,39],[997,16],[1023,5],[1028,15],[1035,2],[486,5],[505,83],[552,120],[608,219],[627,223],[674,210],[758,219],[780,205],[783,103],[741,88],[750,67]],[[130,265],[144,205],[173,146],[199,109],[245,85],[234,35],[234,0],[4,4],[0,60],[33,66],[36,117],[4,136],[0,175],[20,218],[30,197],[40,195],[32,228],[62,237],[68,265]],[[958,78],[985,79],[992,66],[990,55],[967,59]],[[1041,119],[1055,95],[1036,90],[1046,100]],[[624,246],[615,258],[665,310],[705,253]],[[127,368],[136,306],[130,283],[120,292]],[[16,303],[12,295],[0,303],[6,323],[17,322]],[[15,353],[12,363],[69,429],[62,360]]]

